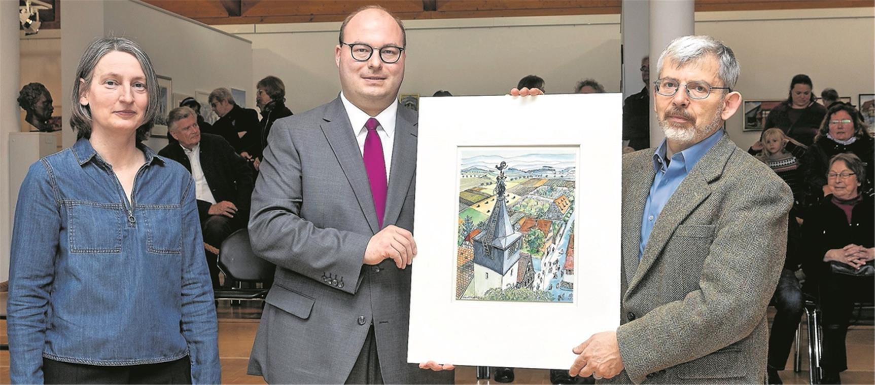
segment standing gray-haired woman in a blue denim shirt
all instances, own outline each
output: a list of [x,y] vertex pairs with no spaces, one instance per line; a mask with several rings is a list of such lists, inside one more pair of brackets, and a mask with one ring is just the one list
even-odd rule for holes
[[12,383],[219,383],[192,176],[141,141],[158,79],[126,38],[76,70],[72,148],[31,165],[12,234]]

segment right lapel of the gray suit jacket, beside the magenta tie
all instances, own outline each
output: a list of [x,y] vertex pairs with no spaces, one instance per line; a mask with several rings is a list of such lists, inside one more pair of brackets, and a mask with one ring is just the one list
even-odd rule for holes
[[386,212],[383,225],[395,224],[401,214],[401,207],[416,172],[416,113],[398,106],[395,118],[395,144],[392,147],[392,164],[388,176]]

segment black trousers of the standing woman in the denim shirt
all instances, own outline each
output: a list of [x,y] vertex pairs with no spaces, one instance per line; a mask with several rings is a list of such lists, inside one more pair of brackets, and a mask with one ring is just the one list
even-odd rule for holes
[[106,367],[43,358],[43,380],[55,383],[190,384],[192,363],[186,355],[177,361]]

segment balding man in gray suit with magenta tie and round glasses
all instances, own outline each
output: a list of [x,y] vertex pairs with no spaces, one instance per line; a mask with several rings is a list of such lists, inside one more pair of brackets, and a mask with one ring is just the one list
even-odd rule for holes
[[417,116],[396,101],[405,45],[386,10],[353,12],[334,48],[339,97],[270,130],[249,222],[255,253],[277,266],[248,367],[267,382],[453,381],[450,365],[407,363]]

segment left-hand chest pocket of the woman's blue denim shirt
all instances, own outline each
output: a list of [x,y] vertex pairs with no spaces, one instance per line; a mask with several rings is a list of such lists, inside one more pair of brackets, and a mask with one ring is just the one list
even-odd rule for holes
[[[119,203],[64,201],[72,253],[121,253],[124,207]],[[103,223],[95,226],[95,223]],[[113,229],[107,232],[108,229]]]

